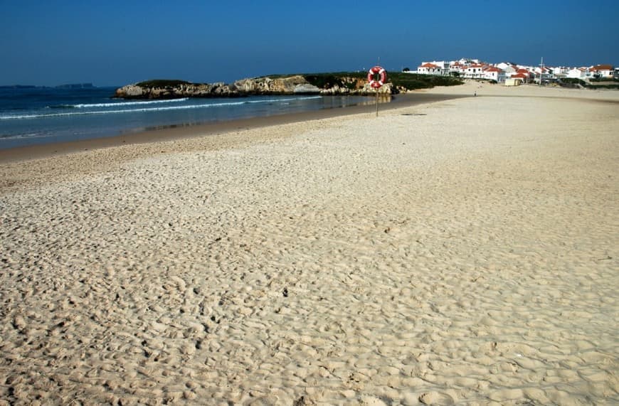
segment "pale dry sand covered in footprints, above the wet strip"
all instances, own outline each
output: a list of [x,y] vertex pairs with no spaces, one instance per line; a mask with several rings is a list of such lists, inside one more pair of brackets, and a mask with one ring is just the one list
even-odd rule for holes
[[0,165],[0,403],[619,402],[619,93]]

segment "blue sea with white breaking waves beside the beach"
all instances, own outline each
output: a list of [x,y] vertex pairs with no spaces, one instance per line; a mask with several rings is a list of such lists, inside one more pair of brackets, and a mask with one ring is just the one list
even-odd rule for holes
[[362,96],[122,100],[116,87],[0,87],[0,149],[366,104]]

